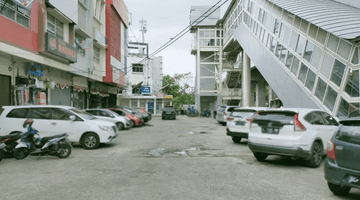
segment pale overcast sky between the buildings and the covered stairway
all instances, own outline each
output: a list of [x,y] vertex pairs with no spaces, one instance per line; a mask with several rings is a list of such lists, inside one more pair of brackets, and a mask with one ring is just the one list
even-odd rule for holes
[[[145,43],[149,43],[149,54],[168,42],[190,24],[191,6],[213,6],[219,0],[124,0],[132,25],[129,27],[131,42],[142,42],[141,19],[147,21]],[[221,7],[221,15],[231,0]],[[191,37],[187,33],[171,46],[157,54],[163,57],[164,75],[192,72],[195,75],[195,56],[191,55]]]

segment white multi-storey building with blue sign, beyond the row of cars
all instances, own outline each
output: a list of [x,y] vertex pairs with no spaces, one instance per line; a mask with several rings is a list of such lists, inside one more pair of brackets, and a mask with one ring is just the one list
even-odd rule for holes
[[128,87],[118,95],[118,105],[142,107],[152,114],[161,114],[168,102],[161,92],[162,57],[149,58],[147,43],[128,43],[127,83]]

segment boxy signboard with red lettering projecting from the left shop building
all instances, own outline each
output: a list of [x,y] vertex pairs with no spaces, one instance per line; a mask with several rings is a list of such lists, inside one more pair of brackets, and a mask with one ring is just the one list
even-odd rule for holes
[[49,32],[45,33],[45,51],[65,58],[70,63],[77,61],[76,48]]

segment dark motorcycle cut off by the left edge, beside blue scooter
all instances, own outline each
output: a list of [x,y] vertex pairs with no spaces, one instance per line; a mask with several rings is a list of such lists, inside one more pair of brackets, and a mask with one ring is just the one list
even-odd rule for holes
[[17,132],[10,135],[0,136],[0,161],[3,157],[11,157],[15,146],[18,144],[17,140],[23,136],[24,133]]

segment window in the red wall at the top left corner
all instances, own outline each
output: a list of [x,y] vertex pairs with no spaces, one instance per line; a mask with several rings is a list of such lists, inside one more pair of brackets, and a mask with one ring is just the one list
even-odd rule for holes
[[27,9],[22,8],[21,6],[15,4],[12,1],[7,1],[5,7],[5,0],[0,0],[0,8],[1,15],[17,22],[25,26],[26,28],[30,27],[30,11]]

